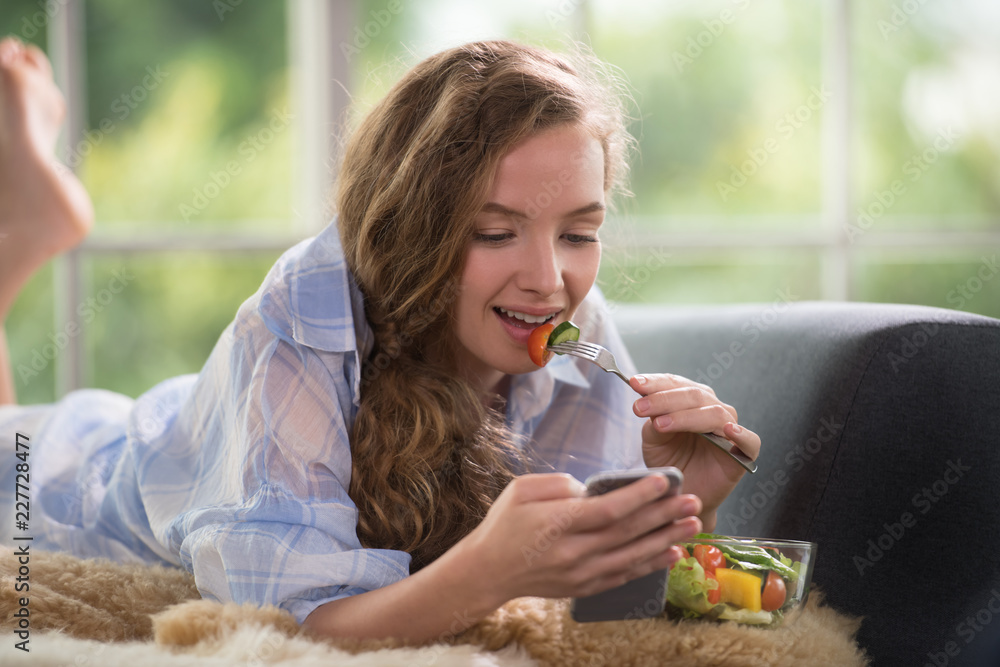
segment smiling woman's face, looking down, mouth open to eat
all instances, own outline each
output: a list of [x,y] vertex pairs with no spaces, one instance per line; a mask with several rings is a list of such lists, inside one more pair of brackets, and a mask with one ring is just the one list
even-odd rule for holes
[[476,386],[538,368],[528,335],[572,319],[590,291],[604,211],[604,152],[582,127],[545,130],[501,160],[455,306],[459,366]]

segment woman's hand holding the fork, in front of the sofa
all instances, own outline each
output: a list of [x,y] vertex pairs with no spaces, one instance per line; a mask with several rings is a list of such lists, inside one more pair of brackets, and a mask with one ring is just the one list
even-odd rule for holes
[[699,434],[721,435],[752,459],[760,453],[760,437],[739,426],[736,409],[720,401],[708,385],[669,374],[636,375],[629,384],[643,395],[633,411],[649,418],[642,427],[646,465],[680,468],[684,493],[701,498],[702,523],[712,530],[717,508],[746,471]]

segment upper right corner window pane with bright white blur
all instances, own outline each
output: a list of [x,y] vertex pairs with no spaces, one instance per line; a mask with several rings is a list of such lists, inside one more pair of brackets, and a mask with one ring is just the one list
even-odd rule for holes
[[859,226],[1000,228],[1000,5],[852,11]]

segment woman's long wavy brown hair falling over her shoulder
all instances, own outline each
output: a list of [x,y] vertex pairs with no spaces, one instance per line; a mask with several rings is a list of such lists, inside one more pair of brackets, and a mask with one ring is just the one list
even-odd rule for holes
[[409,552],[412,571],[472,530],[524,462],[450,354],[473,221],[500,160],[562,124],[600,140],[606,189],[618,189],[631,140],[608,71],[506,41],[453,48],[410,70],[345,147],[340,236],[375,334],[349,493],[362,545]]

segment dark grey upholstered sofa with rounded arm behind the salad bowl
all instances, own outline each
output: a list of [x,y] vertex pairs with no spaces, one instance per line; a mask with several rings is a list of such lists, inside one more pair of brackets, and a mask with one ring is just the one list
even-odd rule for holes
[[717,532],[816,542],[875,665],[1000,664],[1000,320],[918,306],[618,306],[641,371],[711,385],[759,470]]

